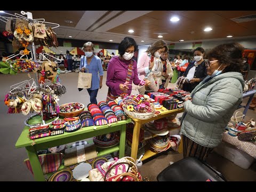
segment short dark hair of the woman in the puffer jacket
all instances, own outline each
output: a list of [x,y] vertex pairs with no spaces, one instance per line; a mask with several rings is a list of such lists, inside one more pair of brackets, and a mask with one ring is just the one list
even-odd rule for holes
[[243,68],[244,47],[239,43],[224,43],[215,46],[208,54],[207,58],[215,58],[219,63],[227,64],[223,73],[229,71],[241,72]]

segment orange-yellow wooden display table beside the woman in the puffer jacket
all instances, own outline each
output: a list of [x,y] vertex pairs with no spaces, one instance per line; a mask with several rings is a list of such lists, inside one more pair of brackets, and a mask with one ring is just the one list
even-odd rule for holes
[[[130,116],[130,118],[134,121],[134,129],[133,129],[133,137],[132,137],[132,153],[131,153],[132,158],[137,159],[140,130],[141,130],[141,127],[143,124],[148,123],[150,121],[155,121],[156,119],[168,117],[170,115],[182,113],[184,111],[184,108],[167,110],[166,108],[162,107],[162,109],[158,109],[157,111],[160,111],[160,114],[155,117],[149,118],[149,119],[138,119],[138,118],[133,118],[132,116]],[[153,137],[156,137],[156,135]],[[179,153],[182,153],[182,150],[183,150],[183,148],[182,148],[182,140],[181,140],[180,145],[179,145],[179,150],[178,150]],[[145,151],[145,154],[143,155],[141,160],[144,161],[147,158],[152,157],[156,154],[158,154],[158,153],[155,153],[148,149]]]

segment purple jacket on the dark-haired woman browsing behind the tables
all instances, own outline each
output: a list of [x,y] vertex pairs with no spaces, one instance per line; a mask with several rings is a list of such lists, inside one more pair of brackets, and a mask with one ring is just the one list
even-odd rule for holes
[[[113,95],[122,94],[123,91],[119,89],[119,84],[124,84],[127,77],[128,67],[131,60],[121,60],[118,56],[114,56],[108,63],[108,71],[107,71],[107,81],[106,85],[110,88],[111,93]],[[133,60],[133,67],[132,67],[132,76],[130,79],[130,83],[132,82],[135,85],[140,84],[140,79],[138,78],[138,71],[137,71],[137,62]],[[129,89],[127,90],[128,94],[132,92],[132,86],[129,85]]]

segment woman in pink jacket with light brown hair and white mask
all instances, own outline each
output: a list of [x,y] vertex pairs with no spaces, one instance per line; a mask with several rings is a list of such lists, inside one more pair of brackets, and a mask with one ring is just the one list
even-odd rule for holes
[[[142,53],[138,61],[139,79],[147,79],[147,76],[154,67],[154,59],[159,59],[166,50],[168,50],[166,43],[163,40],[159,40],[153,43],[146,52]],[[144,94],[145,91],[145,89],[139,90],[140,94]]]

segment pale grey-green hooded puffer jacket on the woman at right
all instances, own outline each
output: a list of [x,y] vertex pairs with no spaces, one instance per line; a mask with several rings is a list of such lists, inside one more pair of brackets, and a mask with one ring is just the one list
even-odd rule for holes
[[234,111],[242,101],[244,79],[241,73],[210,76],[191,92],[192,102],[184,104],[181,134],[205,147],[217,147]]

